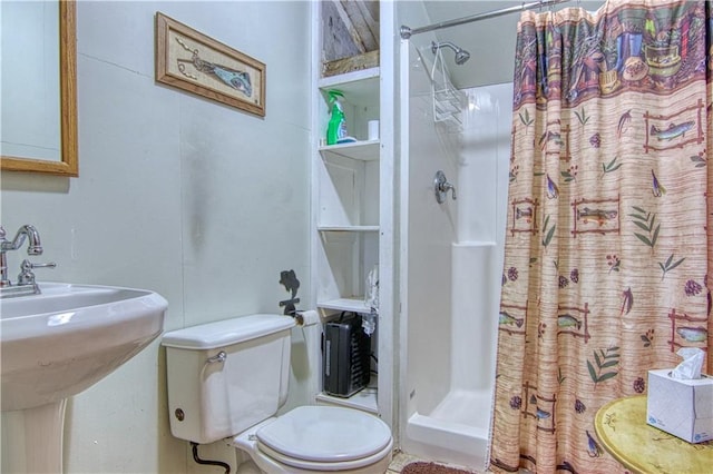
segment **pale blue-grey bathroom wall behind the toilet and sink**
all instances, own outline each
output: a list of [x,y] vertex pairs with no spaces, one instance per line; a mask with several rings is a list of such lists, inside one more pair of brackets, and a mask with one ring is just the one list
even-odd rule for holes
[[[38,278],[156,290],[166,330],[281,312],[290,268],[309,307],[309,9],[79,1],[79,178],[2,174],[8,234],[33,224],[45,247],[33,260],[58,265]],[[265,118],[155,82],[156,11],[266,63]],[[8,256],[13,278],[22,258]],[[307,402],[305,350],[295,354],[289,405]],[[165,387],[157,340],[76,396],[66,472],[206,472],[170,435]]]

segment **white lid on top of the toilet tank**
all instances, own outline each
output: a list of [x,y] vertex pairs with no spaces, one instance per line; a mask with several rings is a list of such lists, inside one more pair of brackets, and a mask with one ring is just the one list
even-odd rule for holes
[[183,349],[213,349],[286,330],[294,325],[295,322],[290,316],[256,314],[172,330],[164,334],[162,345]]

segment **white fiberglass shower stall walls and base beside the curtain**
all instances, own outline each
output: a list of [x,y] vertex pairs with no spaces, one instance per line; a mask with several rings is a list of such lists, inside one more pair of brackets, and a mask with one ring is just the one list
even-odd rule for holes
[[[484,468],[512,88],[462,90],[462,124],[437,121],[430,40],[413,37],[400,49],[400,443],[409,454]],[[437,170],[455,185],[456,200],[449,192],[443,204],[437,203]]]

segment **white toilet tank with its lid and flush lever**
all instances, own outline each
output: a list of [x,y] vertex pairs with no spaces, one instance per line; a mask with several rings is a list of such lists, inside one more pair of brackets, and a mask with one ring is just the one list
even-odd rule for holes
[[273,416],[287,398],[294,324],[256,314],[164,334],[173,435],[213,443]]

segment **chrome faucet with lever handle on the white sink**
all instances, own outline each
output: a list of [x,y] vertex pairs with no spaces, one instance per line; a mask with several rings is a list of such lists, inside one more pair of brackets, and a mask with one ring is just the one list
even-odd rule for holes
[[31,264],[26,259],[20,266],[21,271],[18,277],[18,284],[12,286],[12,283],[8,278],[8,259],[6,253],[8,250],[19,249],[26,239],[28,240],[27,255],[42,255],[40,234],[35,226],[27,224],[20,227],[12,240],[6,238],[4,228],[0,226],[0,296],[20,296],[39,293],[39,287],[35,283],[35,275],[31,271],[32,268],[53,268],[56,266],[55,264]]

